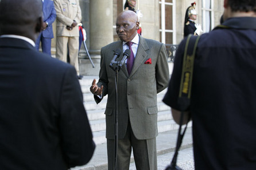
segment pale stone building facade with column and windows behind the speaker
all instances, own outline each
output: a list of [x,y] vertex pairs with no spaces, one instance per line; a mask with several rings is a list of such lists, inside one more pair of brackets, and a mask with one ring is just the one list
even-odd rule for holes
[[[123,11],[126,0],[80,0],[83,25],[86,29],[86,45],[94,62],[92,68],[83,46],[79,53],[80,74],[98,75],[100,48],[117,41],[115,19]],[[178,45],[183,39],[185,11],[196,2],[197,23],[204,33],[219,25],[223,14],[223,0],[137,0],[136,9],[141,11],[142,36],[164,44]],[[53,24],[55,27],[55,23]],[[54,31],[56,31],[54,29]],[[55,38],[52,41],[54,53]]]

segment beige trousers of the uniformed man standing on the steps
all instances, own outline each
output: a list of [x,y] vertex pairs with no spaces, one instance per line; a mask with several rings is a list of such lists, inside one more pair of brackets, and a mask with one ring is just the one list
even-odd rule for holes
[[56,58],[67,62],[67,52],[69,50],[69,63],[75,67],[79,75],[78,53],[79,37],[57,36],[56,38]]

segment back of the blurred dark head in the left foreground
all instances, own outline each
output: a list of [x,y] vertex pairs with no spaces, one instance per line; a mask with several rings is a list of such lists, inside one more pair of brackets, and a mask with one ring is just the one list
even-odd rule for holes
[[41,31],[41,0],[0,0],[0,35],[22,35],[35,40]]

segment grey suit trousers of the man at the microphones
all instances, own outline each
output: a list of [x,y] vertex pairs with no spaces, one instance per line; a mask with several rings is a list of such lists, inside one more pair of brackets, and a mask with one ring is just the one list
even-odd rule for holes
[[[156,138],[138,140],[133,134],[130,121],[126,135],[118,139],[117,169],[129,170],[131,148],[137,170],[157,170]],[[108,170],[114,169],[114,140],[107,139]]]

